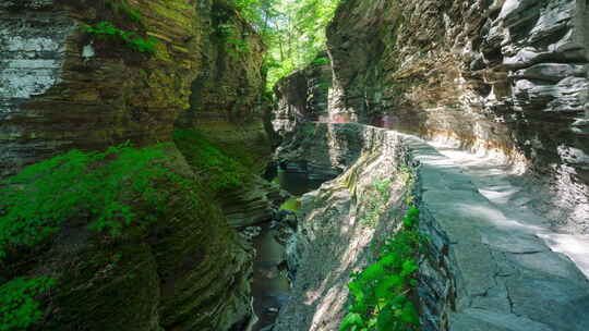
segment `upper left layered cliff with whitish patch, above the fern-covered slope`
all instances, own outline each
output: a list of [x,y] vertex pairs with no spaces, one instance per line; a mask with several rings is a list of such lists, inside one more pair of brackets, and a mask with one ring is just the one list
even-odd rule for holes
[[[141,24],[106,3],[0,4],[3,172],[58,150],[170,140],[189,109],[203,121],[260,119],[263,46],[225,1],[130,1]],[[157,39],[155,53],[82,32],[101,21]]]

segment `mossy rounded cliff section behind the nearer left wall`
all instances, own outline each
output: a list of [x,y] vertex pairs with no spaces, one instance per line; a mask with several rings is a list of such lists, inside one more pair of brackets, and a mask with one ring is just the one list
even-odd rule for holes
[[272,149],[266,136],[266,107],[262,99],[265,46],[228,1],[215,1],[201,11],[205,34],[199,52],[202,66],[190,87],[190,108],[177,121],[197,128],[229,149],[257,158],[265,167]]

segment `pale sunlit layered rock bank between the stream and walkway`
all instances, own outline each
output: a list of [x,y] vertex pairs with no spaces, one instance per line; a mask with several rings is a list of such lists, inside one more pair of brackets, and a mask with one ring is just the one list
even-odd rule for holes
[[[292,298],[274,330],[339,330],[347,314],[350,273],[373,258],[371,247],[389,237],[401,222],[411,175],[405,171],[399,136],[357,124],[301,124],[278,155],[285,161],[326,160],[321,169],[341,172],[303,195],[297,234],[287,243],[289,269],[296,274]],[[296,143],[297,142],[297,143]],[[330,161],[328,161],[330,160]],[[316,170],[310,169],[311,174]],[[376,183],[387,197],[371,206]],[[368,213],[378,208],[377,220]]]

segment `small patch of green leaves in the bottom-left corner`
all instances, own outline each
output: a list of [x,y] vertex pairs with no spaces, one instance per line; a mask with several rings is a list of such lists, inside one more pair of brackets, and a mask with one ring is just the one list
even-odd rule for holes
[[47,277],[16,278],[0,285],[0,331],[25,330],[43,317],[35,296],[55,285]]

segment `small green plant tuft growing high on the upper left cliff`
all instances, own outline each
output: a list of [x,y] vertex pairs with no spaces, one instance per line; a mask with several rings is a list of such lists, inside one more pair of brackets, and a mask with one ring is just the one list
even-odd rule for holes
[[133,32],[127,32],[112,25],[110,22],[98,22],[92,26],[84,28],[84,32],[96,36],[97,38],[113,38],[123,41],[127,47],[142,52],[155,53],[157,40],[153,37],[142,38]]

